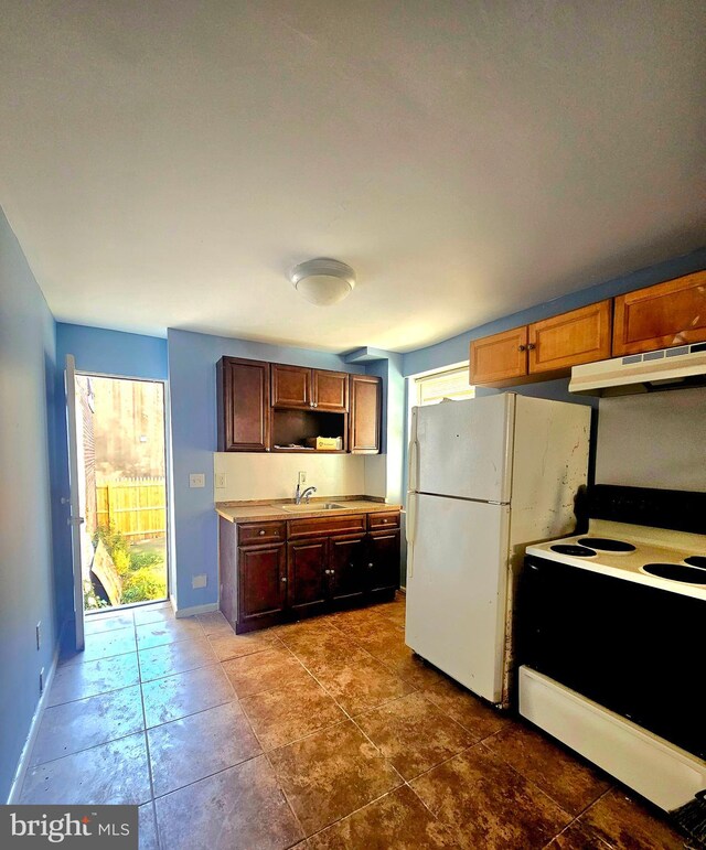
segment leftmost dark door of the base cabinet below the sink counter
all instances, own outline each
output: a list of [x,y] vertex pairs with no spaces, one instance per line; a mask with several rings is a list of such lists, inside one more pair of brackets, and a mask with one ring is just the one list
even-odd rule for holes
[[286,564],[285,544],[238,548],[238,625],[285,610]]

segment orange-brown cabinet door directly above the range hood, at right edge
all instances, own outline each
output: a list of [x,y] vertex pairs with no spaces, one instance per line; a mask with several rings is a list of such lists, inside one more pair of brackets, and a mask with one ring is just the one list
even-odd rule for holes
[[706,341],[706,271],[616,299],[613,356]]

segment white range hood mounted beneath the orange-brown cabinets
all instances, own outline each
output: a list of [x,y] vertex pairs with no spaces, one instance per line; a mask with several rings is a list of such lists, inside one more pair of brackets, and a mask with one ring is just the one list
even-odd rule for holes
[[706,386],[706,343],[574,366],[569,392],[629,396],[694,386]]

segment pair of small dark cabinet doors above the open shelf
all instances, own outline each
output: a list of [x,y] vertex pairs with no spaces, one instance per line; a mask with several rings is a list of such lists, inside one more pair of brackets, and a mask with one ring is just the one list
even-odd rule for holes
[[272,407],[349,411],[349,376],[344,372],[272,364]]

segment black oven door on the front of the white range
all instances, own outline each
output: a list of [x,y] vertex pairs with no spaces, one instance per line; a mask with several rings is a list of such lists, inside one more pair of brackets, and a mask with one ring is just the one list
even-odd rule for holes
[[704,758],[706,603],[527,557],[520,664]]

